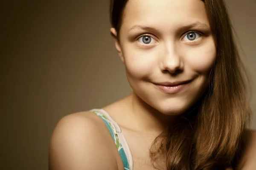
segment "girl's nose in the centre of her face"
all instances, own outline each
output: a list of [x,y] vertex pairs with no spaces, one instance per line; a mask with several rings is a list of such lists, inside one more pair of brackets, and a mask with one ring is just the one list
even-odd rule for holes
[[163,60],[161,69],[163,72],[175,74],[183,70],[183,60],[181,52],[175,46],[169,46],[163,50]]

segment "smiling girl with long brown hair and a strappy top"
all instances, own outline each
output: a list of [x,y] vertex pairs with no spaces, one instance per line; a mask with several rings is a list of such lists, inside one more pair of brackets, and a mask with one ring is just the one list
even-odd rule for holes
[[112,0],[111,23],[133,92],[62,118],[50,169],[255,170],[247,81],[223,0]]

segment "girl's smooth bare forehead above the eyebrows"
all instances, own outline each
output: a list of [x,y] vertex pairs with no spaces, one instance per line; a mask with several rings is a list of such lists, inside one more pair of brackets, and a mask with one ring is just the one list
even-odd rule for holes
[[172,28],[195,22],[209,23],[202,0],[128,0],[122,26]]

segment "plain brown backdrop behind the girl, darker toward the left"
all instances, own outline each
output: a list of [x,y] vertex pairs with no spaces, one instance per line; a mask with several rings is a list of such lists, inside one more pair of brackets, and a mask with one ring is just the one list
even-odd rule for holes
[[[131,92],[109,34],[108,1],[0,5],[1,170],[47,170],[49,138],[61,117]],[[227,4],[255,82],[256,0]],[[253,91],[253,129],[255,101]]]

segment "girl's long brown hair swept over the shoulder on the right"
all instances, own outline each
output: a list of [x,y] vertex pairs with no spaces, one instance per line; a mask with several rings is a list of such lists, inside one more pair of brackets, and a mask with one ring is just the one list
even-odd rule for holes
[[[111,0],[110,18],[119,32],[128,0]],[[216,61],[209,88],[197,103],[166,128],[151,147],[151,158],[167,170],[212,170],[236,166],[250,123],[249,82],[234,43],[223,0],[204,0]]]

